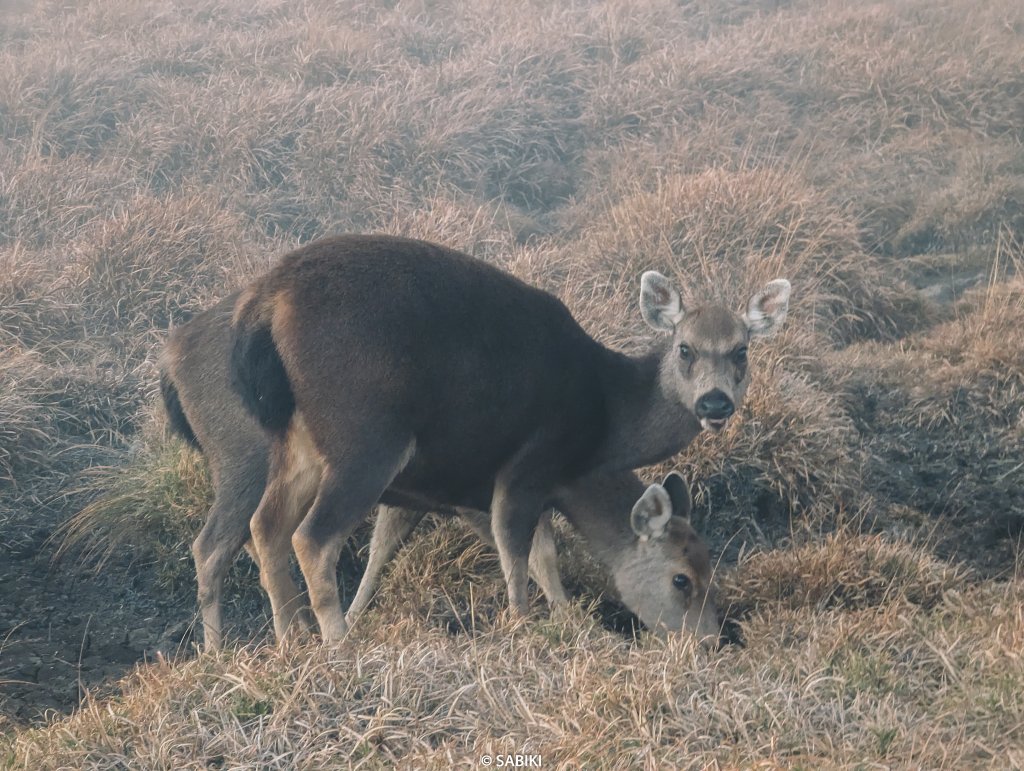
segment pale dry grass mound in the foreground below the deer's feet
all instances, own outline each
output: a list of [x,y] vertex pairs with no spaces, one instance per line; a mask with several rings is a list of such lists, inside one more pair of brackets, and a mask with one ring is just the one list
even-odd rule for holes
[[[825,551],[740,567],[740,592],[768,600],[812,562],[871,586],[893,555]],[[146,666],[123,696],[6,752],[16,768],[446,768],[505,753],[540,754],[546,768],[1019,764],[1019,585],[947,589],[927,607],[900,595],[766,601],[749,646],[716,654],[633,644],[579,617],[453,637],[399,612],[337,649]]]

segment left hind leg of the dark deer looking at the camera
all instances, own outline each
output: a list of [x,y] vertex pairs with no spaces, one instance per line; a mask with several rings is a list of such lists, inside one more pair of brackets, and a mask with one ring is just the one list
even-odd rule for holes
[[259,567],[260,584],[270,598],[273,632],[283,641],[290,630],[308,627],[305,596],[296,586],[289,568],[292,533],[316,492],[323,466],[298,452],[293,439],[274,447],[269,481],[263,498],[249,522],[253,558]]

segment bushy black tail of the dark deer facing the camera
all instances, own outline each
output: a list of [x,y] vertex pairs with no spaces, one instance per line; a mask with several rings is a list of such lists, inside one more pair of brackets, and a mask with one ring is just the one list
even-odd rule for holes
[[242,320],[236,327],[231,389],[265,429],[282,432],[288,428],[295,412],[295,394],[269,326]]

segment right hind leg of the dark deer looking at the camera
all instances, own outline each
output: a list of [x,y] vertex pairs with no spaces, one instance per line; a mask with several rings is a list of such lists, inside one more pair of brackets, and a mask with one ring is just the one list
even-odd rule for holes
[[[346,539],[377,504],[415,452],[411,436],[396,438],[368,421],[359,432],[348,432],[341,453],[332,453],[324,469],[316,500],[292,537],[295,556],[306,579],[313,614],[325,640],[336,641],[348,631],[338,594],[338,558]],[[337,459],[337,460],[334,460]]]

